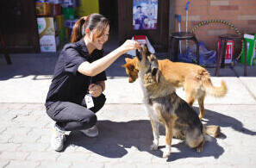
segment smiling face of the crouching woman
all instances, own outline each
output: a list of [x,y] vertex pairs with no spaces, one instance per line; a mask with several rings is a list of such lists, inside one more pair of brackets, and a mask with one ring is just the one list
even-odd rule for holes
[[[93,34],[95,34],[95,30],[92,30],[92,34],[91,34],[91,39],[93,39]],[[104,33],[102,36],[100,37],[95,37],[94,40],[91,40],[91,44],[96,47],[98,50],[102,50],[103,49],[103,44],[109,40],[109,26],[107,26],[107,28],[105,28]]]

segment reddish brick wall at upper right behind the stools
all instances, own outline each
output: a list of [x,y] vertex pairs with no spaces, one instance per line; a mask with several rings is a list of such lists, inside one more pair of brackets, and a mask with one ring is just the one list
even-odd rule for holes
[[[174,0],[175,14],[182,16],[181,29],[185,30],[185,5],[188,0]],[[242,33],[256,33],[256,0],[191,0],[188,30],[201,21],[225,20],[234,24]],[[172,22],[170,23],[172,24]],[[174,22],[178,31],[178,22]],[[234,30],[221,23],[211,23],[197,28],[198,40],[203,40],[209,49],[215,49],[220,34],[235,34]]]

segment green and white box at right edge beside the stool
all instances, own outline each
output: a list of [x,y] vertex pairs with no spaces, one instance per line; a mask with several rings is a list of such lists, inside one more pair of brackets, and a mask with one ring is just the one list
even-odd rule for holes
[[[247,65],[256,65],[256,34],[244,34],[247,42]],[[245,63],[245,50],[241,56],[241,63]]]

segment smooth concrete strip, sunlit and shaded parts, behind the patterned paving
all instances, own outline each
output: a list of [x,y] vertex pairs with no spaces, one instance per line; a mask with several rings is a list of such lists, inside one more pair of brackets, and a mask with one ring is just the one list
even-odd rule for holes
[[[106,70],[108,81],[105,90],[107,103],[141,103],[142,94],[139,82],[128,83],[128,76],[122,68],[125,55],[117,59]],[[0,60],[0,103],[44,103],[53,75],[53,69],[58,59],[58,53],[26,53],[12,54],[12,65]],[[235,65],[234,69],[222,68],[220,77],[214,77],[215,68],[207,68],[214,84],[218,85],[224,79],[228,84],[228,95],[222,99],[208,96],[205,103],[240,104],[255,103],[253,84],[243,84],[236,78],[243,72],[242,65]],[[248,67],[248,76],[255,78],[256,66]],[[241,75],[242,76],[242,75]],[[245,80],[242,80],[245,81]],[[184,98],[184,91],[178,90],[178,95]],[[241,98],[242,97],[242,98]]]

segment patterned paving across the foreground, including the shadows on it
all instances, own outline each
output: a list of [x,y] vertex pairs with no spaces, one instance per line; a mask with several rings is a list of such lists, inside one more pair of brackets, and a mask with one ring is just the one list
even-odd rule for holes
[[[0,122],[0,137],[9,137],[6,141],[0,140],[0,165],[138,168],[256,165],[256,104],[207,104],[203,123],[219,125],[222,135],[207,142],[202,153],[174,139],[169,159],[161,158],[165,146],[163,127],[160,127],[159,150],[149,150],[153,134],[142,104],[106,104],[97,113],[99,136],[91,139],[80,132],[66,134],[64,152],[51,150],[49,140],[53,121],[46,115],[43,104],[35,104],[35,107],[32,104],[0,103],[0,120],[4,118],[3,114],[29,111],[28,115],[18,112],[15,118]],[[197,107],[195,109],[198,111]],[[28,122],[32,124],[26,124]]]

